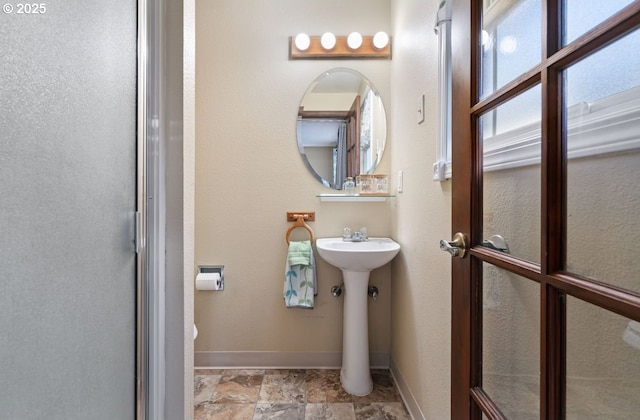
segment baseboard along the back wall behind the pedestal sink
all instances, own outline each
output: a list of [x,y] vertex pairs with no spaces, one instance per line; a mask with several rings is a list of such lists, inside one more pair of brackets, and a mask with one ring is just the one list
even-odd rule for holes
[[[389,353],[369,354],[372,369],[389,369]],[[216,369],[338,369],[342,352],[196,351],[194,366]]]

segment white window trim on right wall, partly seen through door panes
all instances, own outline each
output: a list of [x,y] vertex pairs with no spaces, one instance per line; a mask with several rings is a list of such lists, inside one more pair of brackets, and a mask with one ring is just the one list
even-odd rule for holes
[[[440,3],[434,27],[438,35],[439,105],[434,181],[452,176],[450,3]],[[640,149],[640,87],[569,107],[568,137],[569,159]],[[485,171],[539,164],[540,122],[486,138],[483,147]]]

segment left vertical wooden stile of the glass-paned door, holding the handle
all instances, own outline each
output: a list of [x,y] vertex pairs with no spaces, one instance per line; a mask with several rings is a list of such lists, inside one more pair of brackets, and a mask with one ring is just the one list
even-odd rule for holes
[[[468,7],[468,1],[458,0],[453,2],[452,19],[451,19],[451,64],[452,74],[455,75],[451,79],[452,84],[452,115],[469,115],[471,99],[469,93],[477,91],[475,87],[476,78],[472,77],[472,53],[471,40],[469,34],[473,33],[469,30],[471,22],[478,21],[472,19],[472,10]],[[451,138],[453,143],[459,139],[471,138],[471,119],[464,118],[452,124]],[[451,156],[451,166],[455,168],[453,174],[452,190],[456,194],[452,195],[451,200],[451,218],[452,232],[463,232],[467,237],[468,244],[478,243],[478,238],[474,237],[474,229],[472,226],[478,215],[472,214],[471,205],[473,201],[479,197],[471,198],[471,194],[477,188],[473,188],[472,182],[478,179],[473,176],[478,170],[473,163],[476,162],[475,154],[479,153],[473,147],[464,148],[462,151],[453,150]],[[476,207],[477,208],[477,207]],[[451,284],[451,418],[452,419],[471,419],[478,415],[477,409],[471,403],[469,390],[475,383],[479,383],[477,375],[480,373],[477,369],[476,362],[471,360],[471,355],[480,346],[479,337],[472,336],[471,325],[473,323],[481,323],[474,314],[478,311],[475,309],[477,305],[476,296],[478,290],[477,285],[473,285],[472,270],[477,270],[473,266],[473,259],[453,258],[451,260],[452,284]],[[456,278],[469,279],[469,281],[456,281]],[[468,398],[460,398],[461,395],[469,395]]]

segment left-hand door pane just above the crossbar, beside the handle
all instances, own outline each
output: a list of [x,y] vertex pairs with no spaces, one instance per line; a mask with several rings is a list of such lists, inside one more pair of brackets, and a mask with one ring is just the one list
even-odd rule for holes
[[540,98],[538,85],[480,118],[484,245],[533,262],[540,261]]

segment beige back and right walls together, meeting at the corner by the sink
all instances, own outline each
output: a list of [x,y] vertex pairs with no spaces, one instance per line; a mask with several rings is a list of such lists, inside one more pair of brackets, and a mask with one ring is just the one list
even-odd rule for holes
[[[410,403],[425,418],[449,415],[450,260],[438,241],[450,236],[450,183],[431,180],[435,162],[437,0],[252,0],[196,2],[195,264],[224,264],[224,292],[195,292],[196,353],[339,352],[342,299],[329,289],[340,272],[319,262],[313,311],[285,309],[282,282],[287,211],[314,210],[317,237],[344,226],[402,245],[371,284],[370,348],[391,353]],[[337,13],[340,10],[341,13]],[[288,59],[298,32],[351,30],[393,36],[393,59]],[[330,192],[298,155],[295,116],[322,71],[350,67],[380,92],[389,121],[378,172],[404,171],[404,192],[386,203],[326,203]],[[418,96],[426,120],[418,125]],[[303,232],[300,232],[303,237]]]

